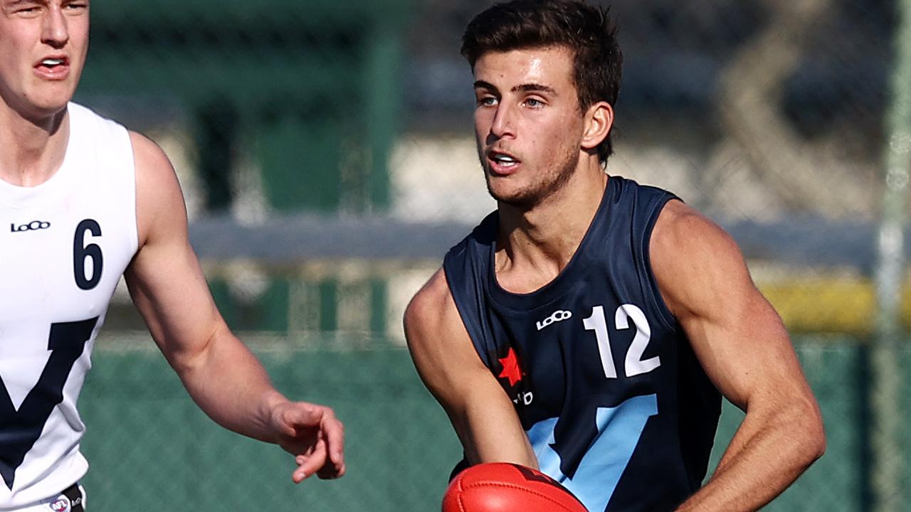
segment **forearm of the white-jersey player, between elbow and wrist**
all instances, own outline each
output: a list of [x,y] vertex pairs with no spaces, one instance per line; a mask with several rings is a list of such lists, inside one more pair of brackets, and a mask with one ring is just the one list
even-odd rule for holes
[[213,335],[198,353],[171,359],[193,401],[216,423],[275,442],[271,411],[286,399],[256,357],[227,329]]

